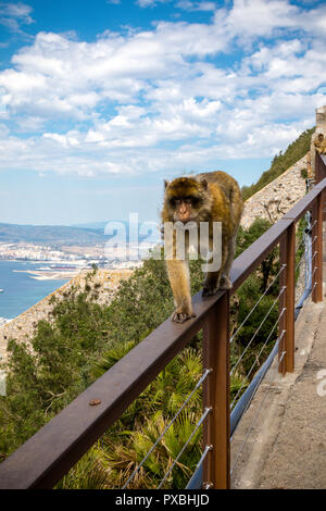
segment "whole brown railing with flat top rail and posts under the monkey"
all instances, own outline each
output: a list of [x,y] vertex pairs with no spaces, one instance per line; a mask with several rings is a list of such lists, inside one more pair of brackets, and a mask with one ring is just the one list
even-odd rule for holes
[[[296,223],[312,211],[312,299],[323,299],[323,204],[326,164],[316,155],[316,186],[235,261],[233,289],[193,299],[197,317],[185,324],[166,320],[90,385],[64,410],[0,464],[0,488],[51,488],[82,458],[145,390],[168,362],[203,331],[202,484],[204,488],[230,485],[230,434],[240,416],[230,414],[230,295],[279,245],[280,273],[277,320],[279,372],[294,369]],[[273,352],[272,352],[273,354]],[[251,396],[271,364],[271,357],[251,382]],[[256,386],[252,384],[256,382]],[[248,396],[248,395],[247,395]],[[241,401],[242,397],[240,398]],[[95,404],[96,403],[96,404]],[[248,401],[247,401],[248,406]],[[243,407],[246,409],[246,406]],[[239,410],[239,408],[238,408]],[[234,410],[235,411],[235,410]],[[231,424],[233,422],[233,424]]]

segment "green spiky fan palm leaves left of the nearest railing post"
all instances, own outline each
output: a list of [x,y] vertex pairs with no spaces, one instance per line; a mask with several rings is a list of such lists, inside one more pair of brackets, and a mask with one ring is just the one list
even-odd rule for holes
[[[156,488],[170,472],[181,449],[195,431],[200,411],[184,410],[167,429],[160,444],[146,459],[128,488]],[[130,432],[126,446],[108,449],[108,468],[114,487],[122,487],[162,435],[168,420],[161,411],[146,421],[141,431]],[[200,458],[201,428],[198,428],[163,483],[163,488],[185,488]]]

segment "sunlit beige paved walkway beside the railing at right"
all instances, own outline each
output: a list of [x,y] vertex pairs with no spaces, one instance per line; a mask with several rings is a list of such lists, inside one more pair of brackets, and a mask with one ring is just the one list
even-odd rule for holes
[[235,433],[234,488],[326,488],[325,290],[296,322],[294,373],[274,361]]

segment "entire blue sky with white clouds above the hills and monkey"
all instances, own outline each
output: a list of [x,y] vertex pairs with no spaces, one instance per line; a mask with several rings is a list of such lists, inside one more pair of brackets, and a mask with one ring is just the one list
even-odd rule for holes
[[316,0],[0,0],[0,222],[155,221],[163,179],[250,185],[326,104]]

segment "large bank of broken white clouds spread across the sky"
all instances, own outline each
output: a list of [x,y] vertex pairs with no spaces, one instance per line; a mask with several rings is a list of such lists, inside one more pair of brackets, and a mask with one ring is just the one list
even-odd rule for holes
[[[30,11],[22,9],[24,16]],[[16,125],[0,130],[0,167],[92,176],[272,157],[326,102],[317,92],[324,23],[324,7],[235,0],[208,23],[161,21],[95,42],[39,33],[0,72],[0,116]]]

